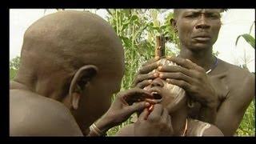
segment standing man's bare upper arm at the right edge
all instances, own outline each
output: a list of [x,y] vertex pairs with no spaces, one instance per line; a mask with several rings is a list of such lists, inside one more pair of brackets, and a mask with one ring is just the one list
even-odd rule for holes
[[243,79],[244,82],[240,82],[218,110],[215,125],[224,135],[234,135],[255,96],[255,75],[251,74]]

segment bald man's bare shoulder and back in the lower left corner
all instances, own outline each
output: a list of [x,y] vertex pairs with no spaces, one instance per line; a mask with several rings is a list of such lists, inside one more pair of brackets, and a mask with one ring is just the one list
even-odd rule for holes
[[82,133],[62,103],[26,90],[10,90],[10,135],[72,136]]

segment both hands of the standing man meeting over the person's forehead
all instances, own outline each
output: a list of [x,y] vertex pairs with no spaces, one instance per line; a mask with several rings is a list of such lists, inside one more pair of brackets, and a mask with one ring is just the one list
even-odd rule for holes
[[[166,58],[178,66],[162,66],[158,58],[146,62],[134,78],[134,86],[143,88],[150,85],[154,78],[166,79],[186,90],[186,95],[202,106],[199,118],[204,122],[214,123],[217,115],[218,95],[210,78],[201,66],[184,58]],[[152,73],[152,71],[154,73]]]

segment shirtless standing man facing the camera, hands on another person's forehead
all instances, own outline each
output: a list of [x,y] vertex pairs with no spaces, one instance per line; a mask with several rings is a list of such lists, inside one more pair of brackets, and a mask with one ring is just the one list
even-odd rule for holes
[[[161,66],[152,59],[138,72],[134,83],[138,87],[150,84],[149,79],[160,78],[181,86],[194,100],[189,111],[192,118],[218,126],[226,136],[234,135],[243,114],[254,98],[255,76],[249,71],[218,59],[218,65],[209,74],[215,58],[212,46],[221,27],[220,11],[216,9],[182,9],[171,20],[177,30],[181,51],[169,58],[179,66]],[[158,68],[157,74],[149,74]]]

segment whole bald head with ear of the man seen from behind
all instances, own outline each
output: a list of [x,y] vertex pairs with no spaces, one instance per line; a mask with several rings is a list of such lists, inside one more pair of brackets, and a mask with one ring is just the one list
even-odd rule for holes
[[90,12],[64,10],[26,30],[13,88],[35,95],[26,103],[46,101],[47,107],[57,105],[50,99],[61,102],[86,132],[110,107],[124,68],[122,42],[108,22]]

